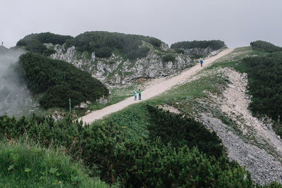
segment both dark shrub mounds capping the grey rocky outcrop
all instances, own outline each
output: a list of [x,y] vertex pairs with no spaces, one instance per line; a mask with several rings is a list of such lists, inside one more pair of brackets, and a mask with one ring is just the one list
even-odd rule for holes
[[68,35],[56,35],[50,32],[31,34],[18,41],[17,46],[25,46],[27,51],[49,56],[55,51],[47,49],[44,43],[65,44],[66,47],[75,46],[80,51],[88,51],[100,58],[108,58],[115,51],[125,58],[136,59],[147,56],[148,46],[143,46],[142,42],[149,42],[153,46],[159,47],[161,40],[154,37],[142,35],[126,35],[118,32],[85,32],[73,38]]

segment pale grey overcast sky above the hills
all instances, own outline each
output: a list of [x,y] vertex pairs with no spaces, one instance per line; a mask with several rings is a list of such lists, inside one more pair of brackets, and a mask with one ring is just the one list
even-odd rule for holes
[[282,0],[0,0],[0,42],[38,32],[86,31],[157,37],[167,44],[220,39],[229,47],[261,39],[282,46]]

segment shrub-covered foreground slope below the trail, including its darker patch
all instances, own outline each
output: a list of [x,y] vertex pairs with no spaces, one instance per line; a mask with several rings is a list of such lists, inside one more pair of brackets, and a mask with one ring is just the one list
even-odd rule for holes
[[[142,118],[147,114],[150,116]],[[156,121],[159,118],[169,126],[162,127],[164,122]],[[244,168],[228,162],[216,134],[195,120],[144,104],[111,115],[91,127],[82,127],[71,118],[55,123],[51,118],[16,120],[6,115],[0,117],[0,125],[5,139],[30,137],[42,147],[66,148],[66,153],[90,167],[92,175],[122,187],[224,187],[226,181],[235,187],[253,186]],[[181,137],[169,138],[172,130],[182,132]],[[25,168],[32,169],[30,165]]]

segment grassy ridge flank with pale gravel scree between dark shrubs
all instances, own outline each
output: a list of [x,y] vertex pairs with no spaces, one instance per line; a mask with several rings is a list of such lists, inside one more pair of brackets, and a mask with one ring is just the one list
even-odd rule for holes
[[[180,113],[182,117],[195,118],[209,130],[214,130],[221,139],[228,158],[240,165],[246,165],[255,182],[281,182],[282,141],[272,130],[271,126],[275,124],[252,115],[248,109],[252,98],[246,93],[247,74],[238,73],[233,69],[247,71],[246,57],[263,58],[266,55],[264,52],[252,51],[250,47],[236,49],[212,67],[190,78],[188,83],[175,87],[155,99],[134,104],[109,115],[102,122],[106,125],[110,122],[118,123],[126,132],[133,134],[133,137],[146,137],[152,125],[148,123],[148,113],[143,105],[154,104],[166,111]],[[164,83],[168,83],[168,80],[164,80]],[[162,123],[162,127],[165,127],[165,124]],[[169,123],[170,126],[172,124]],[[161,132],[166,128],[157,130]],[[168,130],[168,134],[160,133],[161,137],[173,134],[173,128]],[[178,137],[180,135],[178,134]]]

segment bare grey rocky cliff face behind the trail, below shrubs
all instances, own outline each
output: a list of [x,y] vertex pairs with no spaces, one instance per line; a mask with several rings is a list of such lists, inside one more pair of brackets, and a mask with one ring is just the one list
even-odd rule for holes
[[[93,77],[101,80],[104,84],[111,86],[128,84],[141,77],[168,76],[193,64],[189,56],[176,54],[166,44],[161,44],[159,49],[153,48],[151,45],[149,54],[145,58],[137,58],[135,61],[130,61],[117,54],[112,54],[110,58],[97,58],[94,52],[90,54],[86,51],[83,53],[76,51],[75,46],[66,49],[64,45],[59,44],[45,45],[56,50],[55,54],[51,54],[51,58],[72,63],[77,68],[91,73]],[[168,53],[176,57],[175,61],[163,61],[163,56]]]

